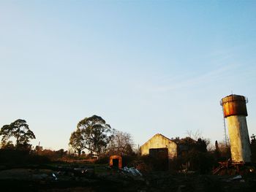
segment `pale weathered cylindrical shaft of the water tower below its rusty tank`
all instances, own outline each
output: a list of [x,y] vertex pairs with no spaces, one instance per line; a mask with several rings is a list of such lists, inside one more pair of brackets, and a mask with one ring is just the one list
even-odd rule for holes
[[227,127],[230,135],[232,161],[250,162],[251,150],[246,117],[242,115],[227,117]]

